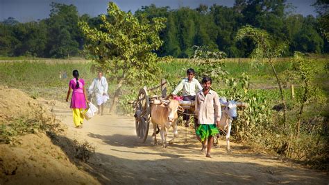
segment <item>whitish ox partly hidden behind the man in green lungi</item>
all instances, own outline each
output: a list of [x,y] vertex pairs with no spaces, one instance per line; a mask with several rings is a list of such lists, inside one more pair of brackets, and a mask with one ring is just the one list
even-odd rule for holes
[[[237,107],[246,106],[243,102],[235,102],[234,100],[228,101],[226,97],[219,98],[221,103],[221,121],[219,128],[226,130],[226,150],[230,151],[230,130],[232,129],[232,121],[237,119]],[[219,147],[218,138],[215,138],[214,145]]]

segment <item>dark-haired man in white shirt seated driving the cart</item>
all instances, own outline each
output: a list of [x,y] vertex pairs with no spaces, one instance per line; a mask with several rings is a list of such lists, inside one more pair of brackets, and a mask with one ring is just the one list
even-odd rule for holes
[[[195,100],[195,95],[202,90],[202,86],[197,79],[194,79],[194,74],[195,71],[192,68],[189,68],[186,71],[187,78],[180,81],[174,92],[171,94],[177,95],[177,93],[183,89],[183,100]],[[184,111],[183,122],[185,122],[185,127],[189,127],[189,110]]]

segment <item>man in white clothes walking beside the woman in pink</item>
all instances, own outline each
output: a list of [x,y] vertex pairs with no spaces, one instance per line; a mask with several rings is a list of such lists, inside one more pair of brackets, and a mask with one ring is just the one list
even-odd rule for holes
[[88,91],[95,93],[96,102],[99,108],[99,114],[103,115],[104,104],[108,101],[108,81],[103,77],[103,73],[99,72],[98,77],[92,81],[92,85],[88,88]]

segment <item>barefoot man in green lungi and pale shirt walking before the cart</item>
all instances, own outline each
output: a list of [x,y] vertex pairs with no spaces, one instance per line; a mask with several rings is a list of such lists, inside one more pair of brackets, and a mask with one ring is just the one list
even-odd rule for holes
[[202,143],[201,152],[205,151],[205,141],[208,140],[206,157],[210,156],[210,150],[214,144],[214,136],[219,134],[217,125],[221,120],[221,104],[214,90],[211,90],[212,79],[203,77],[203,89],[196,94],[195,115],[199,126],[196,128],[196,136]]

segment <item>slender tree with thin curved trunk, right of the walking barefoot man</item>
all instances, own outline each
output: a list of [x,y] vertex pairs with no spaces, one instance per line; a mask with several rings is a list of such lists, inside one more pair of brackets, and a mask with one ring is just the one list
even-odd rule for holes
[[244,38],[251,38],[255,44],[255,49],[251,54],[251,58],[255,58],[256,60],[266,59],[269,65],[271,65],[274,76],[276,77],[276,82],[278,83],[280,90],[280,97],[283,104],[283,123],[287,121],[286,112],[287,106],[285,104],[285,96],[282,92],[281,80],[278,77],[278,73],[276,72],[276,68],[273,65],[273,62],[276,57],[282,55],[283,51],[285,51],[285,43],[277,42],[270,37],[270,35],[260,29],[255,29],[251,26],[244,26],[242,29],[237,31],[237,40],[242,40]]

